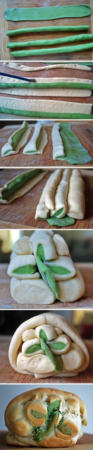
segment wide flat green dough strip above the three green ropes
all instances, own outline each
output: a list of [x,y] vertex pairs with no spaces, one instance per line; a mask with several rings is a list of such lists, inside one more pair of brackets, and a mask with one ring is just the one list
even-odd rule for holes
[[51,20],[65,17],[90,16],[91,6],[79,4],[70,6],[50,6],[46,8],[8,8],[4,11],[6,20],[18,22],[22,20]]

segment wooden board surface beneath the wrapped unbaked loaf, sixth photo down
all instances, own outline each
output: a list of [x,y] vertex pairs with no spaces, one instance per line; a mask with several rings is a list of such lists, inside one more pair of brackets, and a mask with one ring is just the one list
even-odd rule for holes
[[48,377],[36,379],[33,375],[16,372],[9,363],[8,351],[12,336],[0,336],[0,383],[93,383],[93,341],[84,340],[88,348],[89,367],[77,377]]

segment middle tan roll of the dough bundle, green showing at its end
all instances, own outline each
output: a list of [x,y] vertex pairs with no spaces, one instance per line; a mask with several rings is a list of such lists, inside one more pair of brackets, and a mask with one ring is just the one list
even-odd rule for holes
[[63,208],[63,211],[58,215],[59,218],[64,217],[67,212],[67,193],[69,180],[71,175],[71,169],[65,169],[62,172],[62,178],[57,186],[54,197],[54,209],[50,211],[50,216],[53,216],[59,209]]

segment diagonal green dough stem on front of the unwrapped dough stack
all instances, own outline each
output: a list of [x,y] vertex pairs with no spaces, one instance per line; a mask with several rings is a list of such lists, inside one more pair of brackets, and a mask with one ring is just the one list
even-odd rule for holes
[[58,286],[58,283],[55,281],[53,273],[47,267],[41,260],[40,256],[37,256],[36,258],[37,267],[39,269],[40,274],[42,275],[42,278],[44,279],[45,283],[49,284],[52,291],[55,293],[56,298],[60,298],[60,289]]

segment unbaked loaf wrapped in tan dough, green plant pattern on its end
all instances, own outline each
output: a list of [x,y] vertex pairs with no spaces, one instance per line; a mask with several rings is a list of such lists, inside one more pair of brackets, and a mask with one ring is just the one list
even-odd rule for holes
[[76,376],[89,365],[80,334],[63,316],[40,314],[23,322],[9,346],[13,369],[35,378]]

